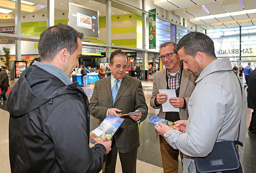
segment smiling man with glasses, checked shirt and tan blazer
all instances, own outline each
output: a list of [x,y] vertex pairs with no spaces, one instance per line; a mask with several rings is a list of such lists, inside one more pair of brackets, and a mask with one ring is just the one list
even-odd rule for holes
[[[150,105],[154,109],[159,109],[159,118],[175,122],[179,119],[188,119],[187,103],[190,95],[196,86],[196,78],[192,74],[183,70],[183,63],[179,60],[176,50],[176,43],[166,42],[160,45],[160,59],[166,66],[154,75],[153,92]],[[165,93],[159,93],[159,89],[175,89],[177,97],[167,100]],[[162,104],[170,102],[179,112],[163,112]],[[156,132],[156,141],[159,137],[162,164],[165,173],[177,173],[179,169],[179,150],[172,148],[163,136]],[[181,153],[183,159],[183,153]]]

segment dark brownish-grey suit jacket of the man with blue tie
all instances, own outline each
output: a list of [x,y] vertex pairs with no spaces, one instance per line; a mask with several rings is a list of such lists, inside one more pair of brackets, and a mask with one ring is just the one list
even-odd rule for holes
[[[93,94],[90,99],[90,113],[99,119],[101,123],[106,117],[109,108],[122,110],[122,114],[135,110],[145,110],[142,113],[141,121],[148,115],[148,106],[145,102],[141,81],[133,77],[124,76],[115,98],[114,106],[112,103],[111,77],[106,77],[95,82]],[[129,116],[123,116],[123,123],[115,132],[115,143],[119,152],[128,153],[139,147],[139,128],[138,123]],[[141,122],[140,121],[140,122]]]

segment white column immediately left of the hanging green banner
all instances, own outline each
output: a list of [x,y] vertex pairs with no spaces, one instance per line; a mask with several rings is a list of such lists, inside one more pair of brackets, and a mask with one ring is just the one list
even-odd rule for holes
[[[142,9],[145,11],[146,10],[146,0],[142,0]],[[147,15],[146,13],[142,13],[142,48],[143,49],[146,49],[146,31],[147,31]],[[147,67],[147,54],[145,51],[142,52],[142,64],[143,64],[143,67],[144,69],[141,69],[141,70],[147,70],[146,67]]]

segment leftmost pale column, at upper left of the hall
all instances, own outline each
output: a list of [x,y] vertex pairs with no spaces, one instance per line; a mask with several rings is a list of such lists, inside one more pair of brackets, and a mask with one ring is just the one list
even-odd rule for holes
[[[21,34],[21,10],[20,0],[15,0],[15,34]],[[15,60],[21,61],[21,43],[20,40],[15,40]]]

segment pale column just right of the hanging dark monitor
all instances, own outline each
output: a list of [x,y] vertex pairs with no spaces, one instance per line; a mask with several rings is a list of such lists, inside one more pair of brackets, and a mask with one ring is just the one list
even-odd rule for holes
[[[112,36],[111,36],[111,0],[106,0],[106,44],[112,45]],[[109,61],[111,54],[111,47],[106,48],[106,57],[107,62]]]

